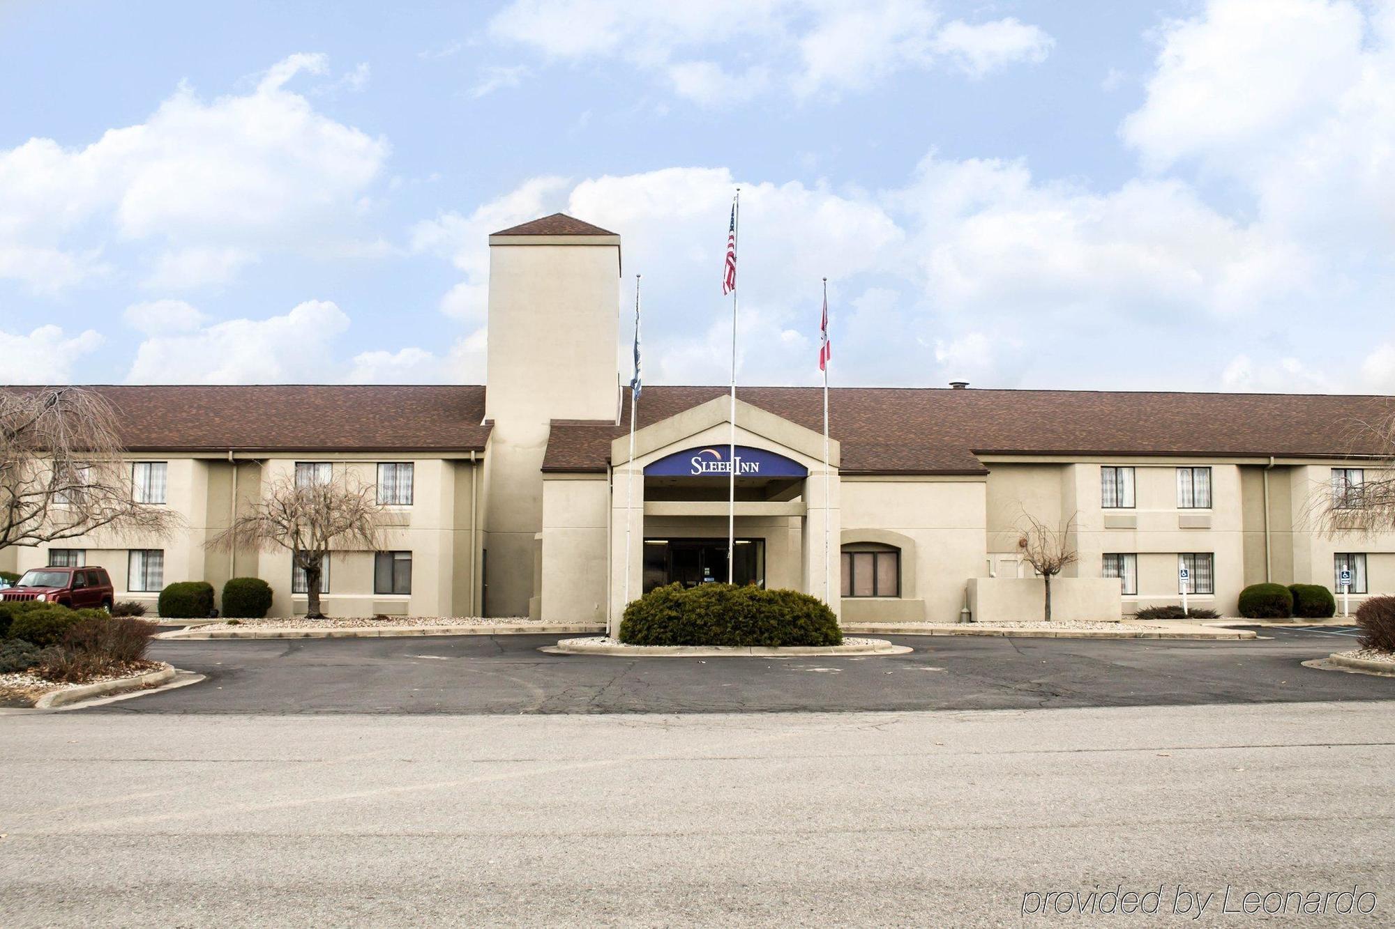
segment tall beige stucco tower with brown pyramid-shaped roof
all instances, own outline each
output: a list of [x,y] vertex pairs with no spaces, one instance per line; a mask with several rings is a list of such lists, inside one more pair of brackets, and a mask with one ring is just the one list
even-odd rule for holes
[[490,236],[485,612],[538,615],[551,420],[614,420],[619,236],[564,213]]

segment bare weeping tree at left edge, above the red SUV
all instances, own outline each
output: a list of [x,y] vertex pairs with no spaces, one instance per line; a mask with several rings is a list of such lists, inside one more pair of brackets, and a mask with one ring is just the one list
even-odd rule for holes
[[109,530],[163,536],[179,518],[135,502],[116,411],[82,388],[0,391],[0,548]]

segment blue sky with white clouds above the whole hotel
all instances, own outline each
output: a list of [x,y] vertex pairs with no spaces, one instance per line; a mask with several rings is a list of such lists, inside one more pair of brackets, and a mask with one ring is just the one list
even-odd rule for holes
[[1395,0],[0,0],[0,382],[480,384],[564,211],[724,384],[739,186],[742,384],[827,278],[834,385],[1395,392]]

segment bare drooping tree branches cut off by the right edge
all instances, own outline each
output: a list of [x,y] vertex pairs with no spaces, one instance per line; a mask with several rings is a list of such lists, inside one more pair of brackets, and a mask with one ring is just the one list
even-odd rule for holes
[[1353,449],[1364,449],[1362,460],[1352,463],[1362,470],[1362,478],[1350,480],[1345,469],[1338,469],[1331,492],[1325,485],[1314,488],[1303,522],[1327,536],[1395,530],[1395,414],[1353,421],[1349,442]]

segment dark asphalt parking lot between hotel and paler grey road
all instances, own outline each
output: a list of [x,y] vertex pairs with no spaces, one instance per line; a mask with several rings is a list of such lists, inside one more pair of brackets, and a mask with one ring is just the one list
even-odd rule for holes
[[160,642],[206,681],[84,713],[767,713],[1381,700],[1395,679],[1303,661],[1341,628],[1260,640],[893,639],[910,654],[618,658],[538,651],[557,636]]

